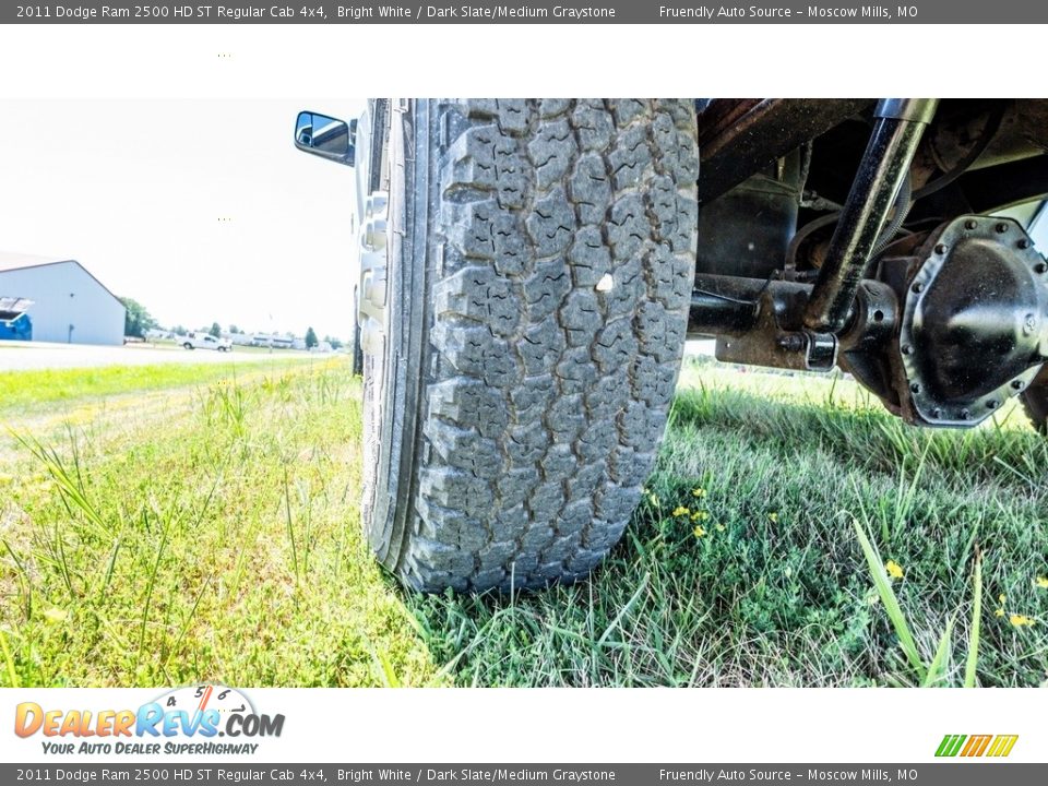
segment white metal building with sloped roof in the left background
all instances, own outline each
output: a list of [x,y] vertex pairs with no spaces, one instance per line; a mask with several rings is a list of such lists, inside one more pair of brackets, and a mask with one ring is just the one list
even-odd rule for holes
[[0,252],[0,296],[34,301],[33,341],[123,344],[123,303],[75,260]]

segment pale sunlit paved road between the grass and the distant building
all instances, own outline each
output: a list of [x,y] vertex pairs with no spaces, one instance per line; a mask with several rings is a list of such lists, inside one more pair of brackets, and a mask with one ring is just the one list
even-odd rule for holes
[[154,366],[176,362],[287,362],[325,357],[291,349],[272,353],[209,349],[187,350],[172,346],[132,344],[128,346],[87,346],[45,344],[41,342],[0,342],[0,372],[35,369],[100,368],[104,366]]

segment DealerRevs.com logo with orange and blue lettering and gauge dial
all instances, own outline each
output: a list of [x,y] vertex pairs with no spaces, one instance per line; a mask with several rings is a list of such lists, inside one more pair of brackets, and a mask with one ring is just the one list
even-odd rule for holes
[[40,736],[45,753],[252,754],[265,737],[279,737],[284,715],[255,711],[234,688],[179,688],[138,710],[57,710],[35,702],[15,707],[14,733]]

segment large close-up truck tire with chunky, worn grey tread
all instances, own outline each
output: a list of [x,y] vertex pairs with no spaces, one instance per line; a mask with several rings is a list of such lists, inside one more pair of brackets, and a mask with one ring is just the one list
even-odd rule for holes
[[622,535],[684,347],[694,123],[688,100],[392,106],[362,517],[406,585],[570,582]]

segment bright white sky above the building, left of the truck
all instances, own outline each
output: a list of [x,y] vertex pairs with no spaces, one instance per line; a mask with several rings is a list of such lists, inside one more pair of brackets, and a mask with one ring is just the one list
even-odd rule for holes
[[165,326],[347,337],[353,170],[299,109],[358,98],[0,100],[0,251],[75,259]]

